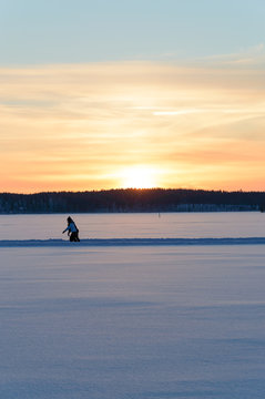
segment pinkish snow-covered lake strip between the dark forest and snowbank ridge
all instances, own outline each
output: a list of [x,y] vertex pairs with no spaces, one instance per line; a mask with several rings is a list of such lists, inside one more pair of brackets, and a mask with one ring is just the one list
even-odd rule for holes
[[[162,213],[71,215],[81,238],[265,237],[265,214]],[[67,238],[68,215],[0,215],[0,239]]]

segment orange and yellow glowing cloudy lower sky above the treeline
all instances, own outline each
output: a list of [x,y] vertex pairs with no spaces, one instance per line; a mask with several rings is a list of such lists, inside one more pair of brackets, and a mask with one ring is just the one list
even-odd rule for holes
[[263,64],[228,61],[0,69],[0,192],[265,191]]

